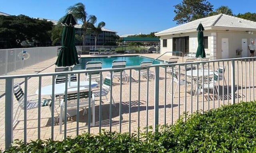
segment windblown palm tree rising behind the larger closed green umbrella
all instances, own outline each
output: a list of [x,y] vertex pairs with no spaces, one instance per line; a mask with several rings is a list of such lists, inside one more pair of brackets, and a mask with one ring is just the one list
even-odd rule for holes
[[86,31],[90,28],[90,25],[94,25],[96,23],[96,16],[88,15],[84,4],[81,2],[68,7],[67,10],[72,12],[72,15],[76,20],[80,20],[83,23],[83,45],[86,45]]

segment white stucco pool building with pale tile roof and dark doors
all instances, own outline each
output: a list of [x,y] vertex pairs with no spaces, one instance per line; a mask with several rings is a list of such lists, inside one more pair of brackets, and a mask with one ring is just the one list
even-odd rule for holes
[[[196,52],[196,28],[200,22],[204,26],[205,52],[210,53],[213,59],[250,56],[248,45],[256,40],[256,22],[226,14],[201,18],[155,33],[160,36],[161,54],[174,51],[183,54]],[[236,50],[242,50],[241,54],[237,55]]]

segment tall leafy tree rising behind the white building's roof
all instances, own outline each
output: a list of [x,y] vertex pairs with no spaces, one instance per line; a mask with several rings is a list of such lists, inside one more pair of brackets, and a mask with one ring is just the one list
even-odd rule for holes
[[198,18],[206,17],[212,12],[213,5],[206,0],[182,0],[181,4],[174,6],[173,21],[177,24],[184,24]]

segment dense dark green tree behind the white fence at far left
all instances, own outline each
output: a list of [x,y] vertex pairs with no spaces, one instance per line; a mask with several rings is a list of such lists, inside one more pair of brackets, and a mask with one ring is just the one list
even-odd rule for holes
[[20,47],[22,41],[37,42],[39,46],[50,43],[53,23],[25,15],[0,16],[0,38],[4,48]]

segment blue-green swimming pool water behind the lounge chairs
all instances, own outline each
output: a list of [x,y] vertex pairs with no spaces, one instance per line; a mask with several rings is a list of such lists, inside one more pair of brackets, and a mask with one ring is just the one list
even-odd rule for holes
[[[85,70],[86,63],[88,61],[101,61],[102,68],[112,68],[113,60],[126,60],[126,66],[140,66],[140,63],[143,61],[154,61],[153,58],[147,58],[144,56],[104,56],[104,57],[90,57],[90,58],[81,58],[80,64],[74,66],[73,70]],[[162,60],[156,60],[154,64],[164,64]]]

